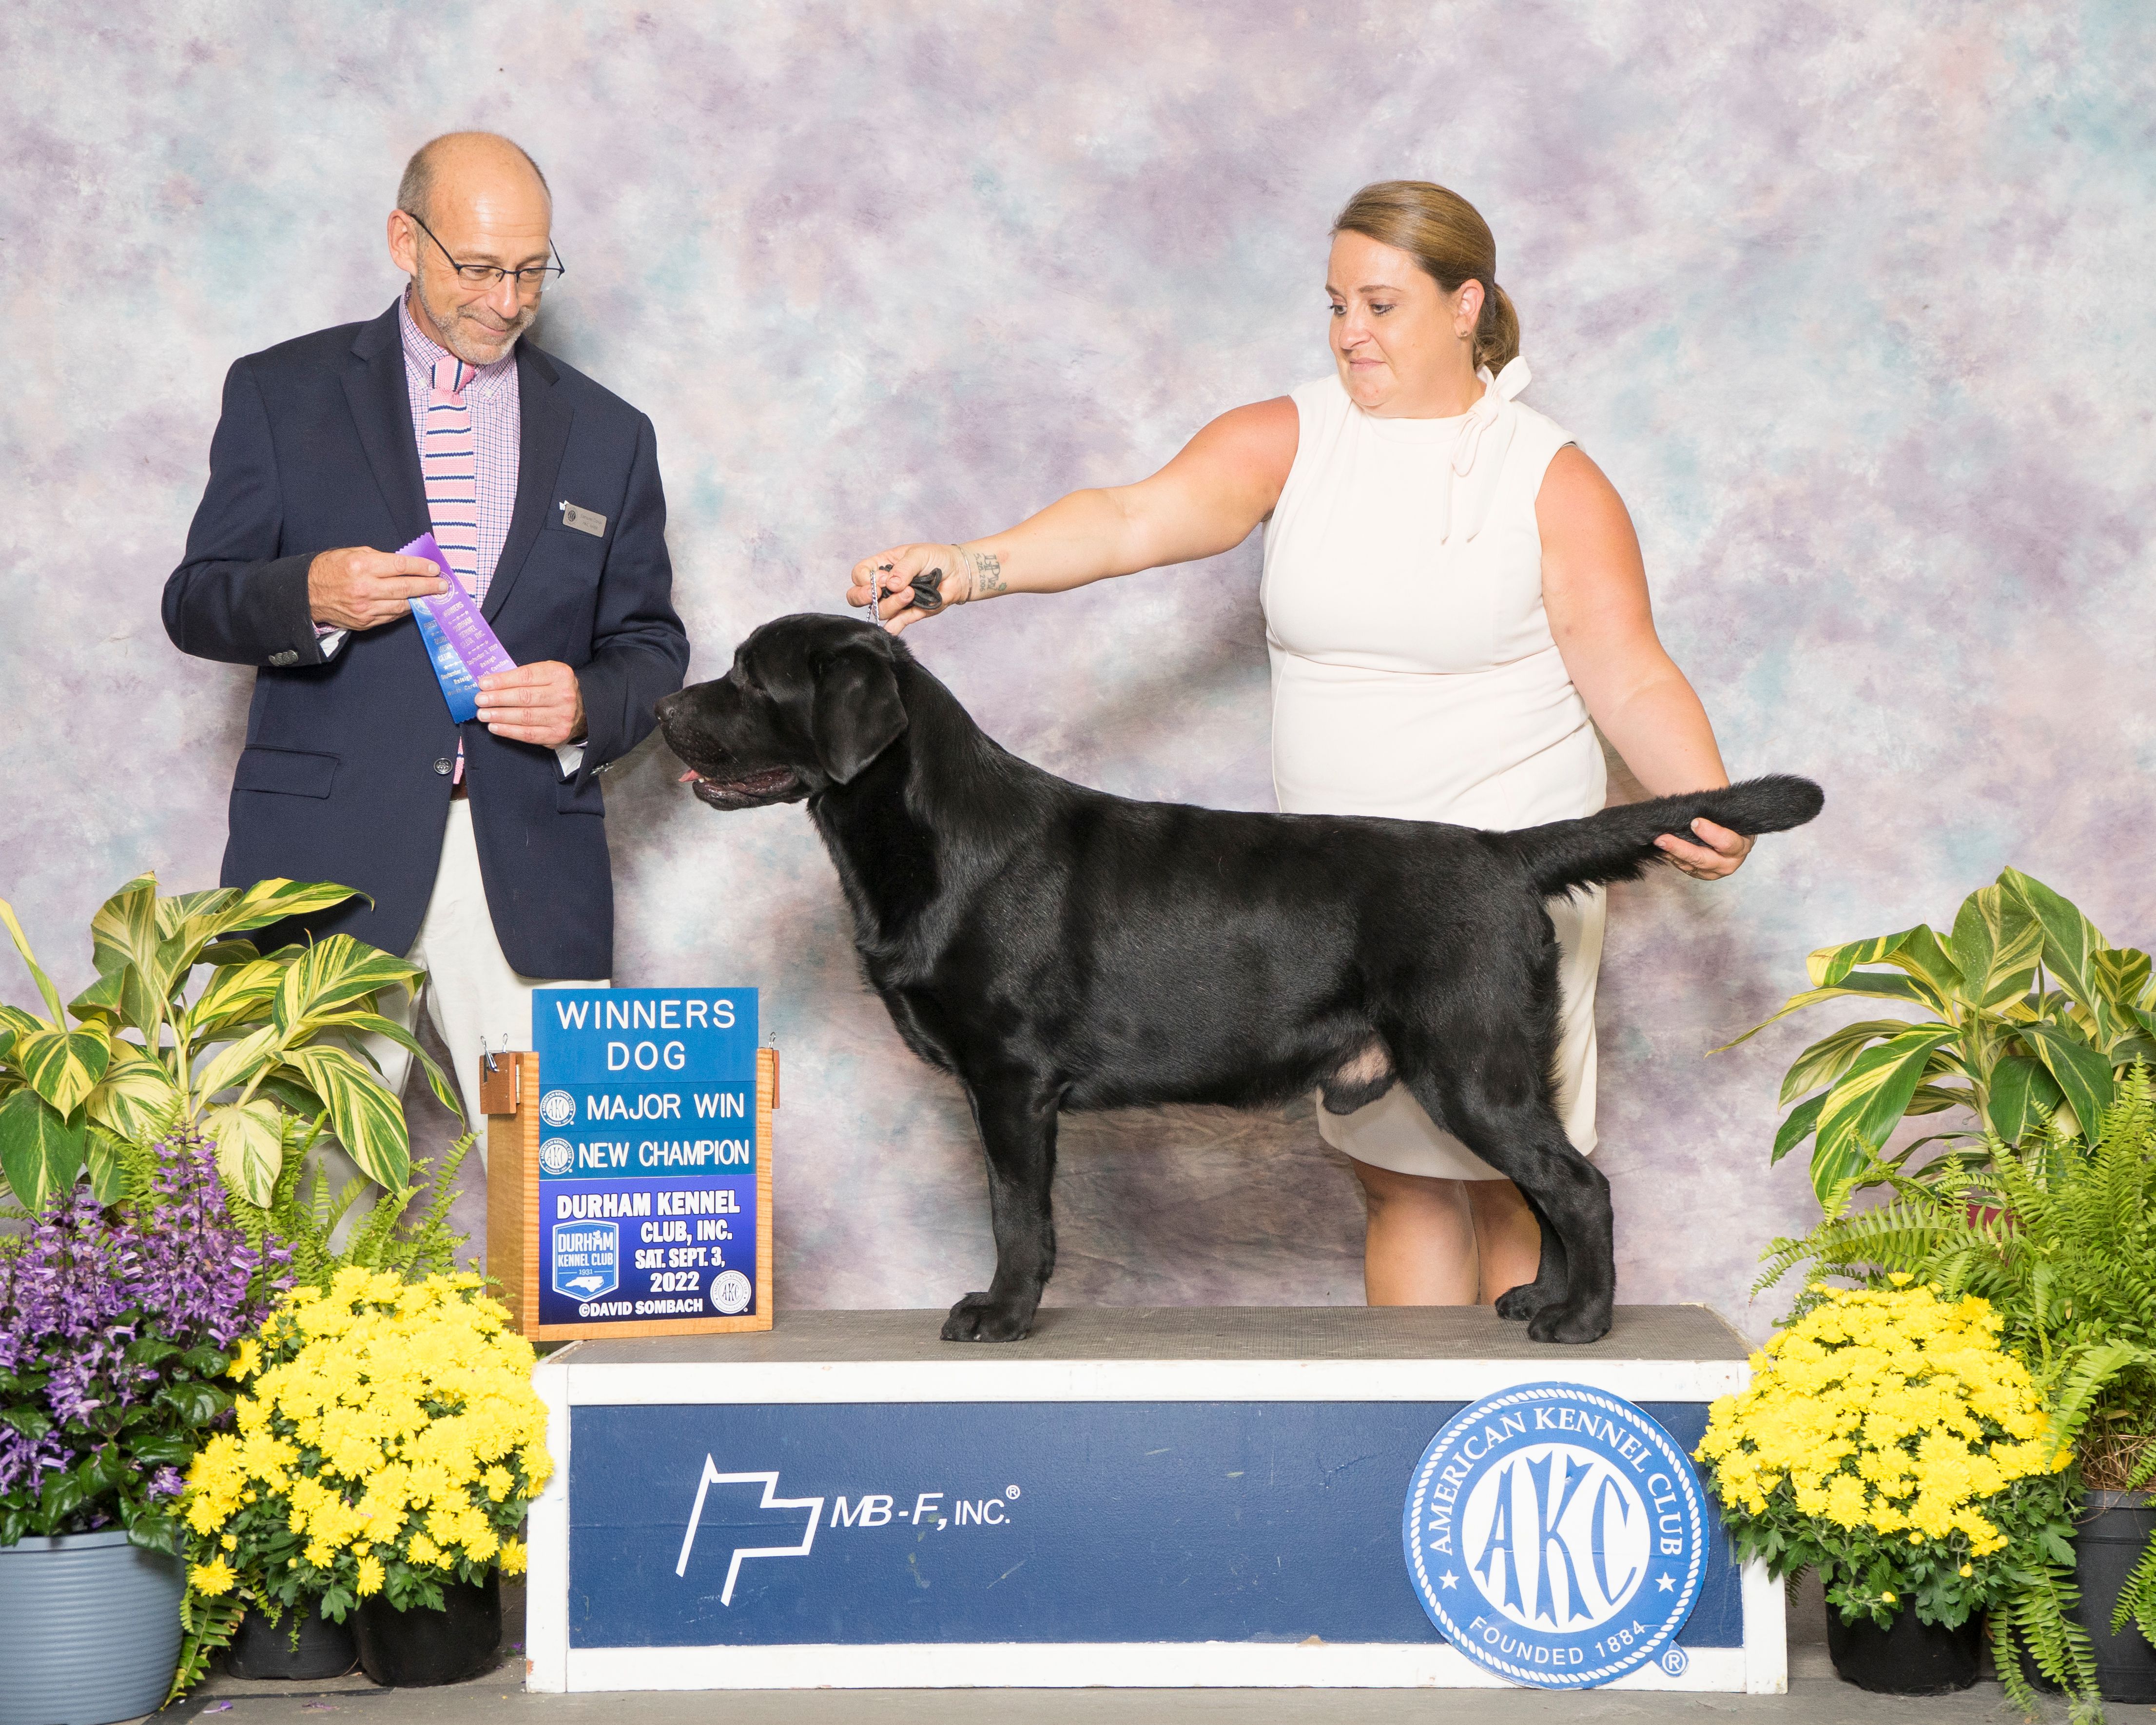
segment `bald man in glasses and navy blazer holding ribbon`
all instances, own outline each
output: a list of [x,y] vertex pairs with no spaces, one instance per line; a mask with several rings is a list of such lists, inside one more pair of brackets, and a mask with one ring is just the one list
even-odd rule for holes
[[[612,972],[602,778],[688,668],[651,420],[524,339],[552,220],[507,138],[425,144],[388,218],[403,293],[233,364],[164,589],[175,647],[254,666],[224,884],[371,899],[259,944],[345,932],[427,966],[474,1130],[479,1057],[533,1046],[533,988]],[[448,584],[397,552],[423,533],[515,662],[464,724],[412,615]],[[403,1050],[373,1052],[399,1089]]]

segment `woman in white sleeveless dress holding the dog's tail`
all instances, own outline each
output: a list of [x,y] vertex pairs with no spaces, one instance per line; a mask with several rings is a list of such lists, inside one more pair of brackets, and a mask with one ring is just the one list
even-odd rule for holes
[[[1332,229],[1335,373],[1235,408],[1151,479],[1072,492],[964,546],[895,546],[847,599],[893,627],[1000,593],[1192,563],[1266,526],[1272,778],[1287,813],[1511,828],[1602,809],[1595,727],[1651,796],[1727,785],[1714,729],[1662,651],[1639,539],[1602,470],[1518,397],[1520,326],[1496,242],[1427,181],[1363,188]],[[906,591],[940,569],[942,604]],[[1751,841],[1692,824],[1675,867],[1731,873]],[[1550,906],[1563,990],[1557,1106],[1595,1147],[1602,893]],[[1371,1305],[1473,1305],[1533,1281],[1511,1182],[1395,1087],[1317,1110],[1369,1199]]]

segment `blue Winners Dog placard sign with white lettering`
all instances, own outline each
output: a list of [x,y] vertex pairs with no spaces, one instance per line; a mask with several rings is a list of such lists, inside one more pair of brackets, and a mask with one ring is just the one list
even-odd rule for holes
[[761,1313],[757,990],[545,988],[539,1324]]

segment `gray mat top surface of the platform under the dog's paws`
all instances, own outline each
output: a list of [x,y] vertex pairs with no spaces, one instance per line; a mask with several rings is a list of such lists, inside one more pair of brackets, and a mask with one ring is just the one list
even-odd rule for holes
[[1602,1341],[1544,1348],[1488,1307],[1046,1307],[1024,1341],[938,1339],[940,1311],[783,1311],[770,1330],[576,1343],[578,1365],[830,1361],[1740,1361],[1708,1307],[1617,1307]]

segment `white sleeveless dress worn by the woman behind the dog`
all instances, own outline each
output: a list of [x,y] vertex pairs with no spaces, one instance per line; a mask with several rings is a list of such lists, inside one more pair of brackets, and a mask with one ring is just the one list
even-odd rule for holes
[[[1602,809],[1602,746],[1542,610],[1535,494],[1572,438],[1516,399],[1524,360],[1457,418],[1373,418],[1339,377],[1294,392],[1296,464],[1266,524],[1272,787],[1291,815],[1511,828]],[[1595,1147],[1604,895],[1552,899],[1557,1110]],[[1395,1085],[1328,1145],[1397,1173],[1503,1179]]]

